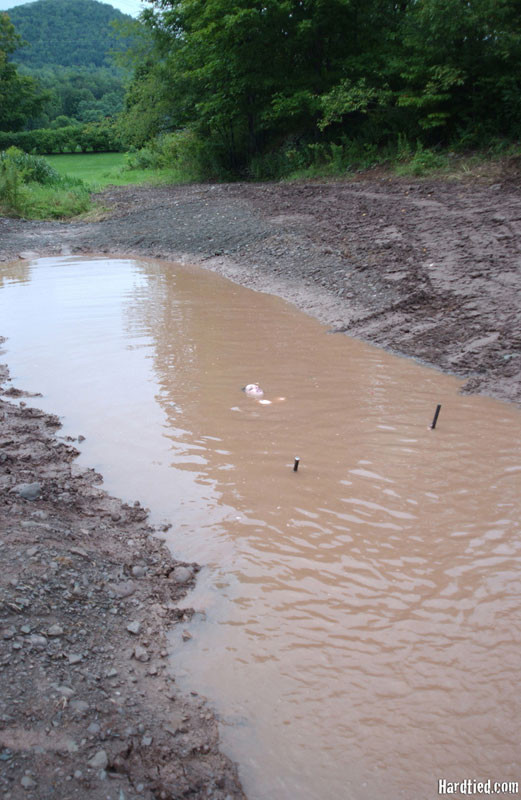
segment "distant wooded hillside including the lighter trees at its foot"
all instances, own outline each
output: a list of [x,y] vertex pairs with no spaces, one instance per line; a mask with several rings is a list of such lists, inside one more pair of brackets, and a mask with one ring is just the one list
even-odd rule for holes
[[127,72],[115,65],[114,54],[128,44],[113,23],[132,28],[130,17],[95,0],[37,0],[8,17],[2,23],[11,31],[8,52],[1,43],[0,52],[6,53],[10,80],[16,74],[41,101],[26,105],[15,127],[1,122],[0,130],[92,123],[122,110]]

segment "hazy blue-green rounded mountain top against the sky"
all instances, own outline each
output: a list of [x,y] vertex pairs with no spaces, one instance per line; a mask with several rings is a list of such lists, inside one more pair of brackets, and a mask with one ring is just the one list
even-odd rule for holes
[[29,44],[17,50],[12,60],[32,69],[46,65],[108,66],[109,51],[125,47],[114,36],[110,23],[132,21],[128,14],[97,0],[36,0],[7,13]]

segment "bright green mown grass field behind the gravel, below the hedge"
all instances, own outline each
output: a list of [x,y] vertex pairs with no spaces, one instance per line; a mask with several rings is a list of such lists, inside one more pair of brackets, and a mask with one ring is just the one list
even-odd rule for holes
[[167,170],[125,170],[124,153],[71,153],[45,158],[60,175],[81,178],[93,191],[109,185],[165,183],[171,178]]

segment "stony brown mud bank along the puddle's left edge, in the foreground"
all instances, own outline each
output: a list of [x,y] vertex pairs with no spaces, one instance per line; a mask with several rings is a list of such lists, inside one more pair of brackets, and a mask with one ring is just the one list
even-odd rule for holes
[[167,631],[198,566],[99,487],[56,417],[0,368],[0,791],[5,798],[243,798]]

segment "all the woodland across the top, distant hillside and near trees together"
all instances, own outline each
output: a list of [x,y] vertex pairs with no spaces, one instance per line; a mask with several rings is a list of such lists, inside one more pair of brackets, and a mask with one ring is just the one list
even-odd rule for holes
[[[0,129],[116,117],[127,146],[168,135],[172,158],[215,177],[277,177],[320,158],[341,166],[404,143],[471,149],[519,139],[519,0],[149,5],[140,23],[127,23],[133,77],[121,113],[122,73],[109,66],[114,40],[104,38],[119,12],[96,0],[13,9],[19,33],[29,39],[38,27],[42,44],[20,50],[2,22]],[[49,12],[46,26],[34,21],[38,10]],[[84,35],[71,32],[73,18]]]

